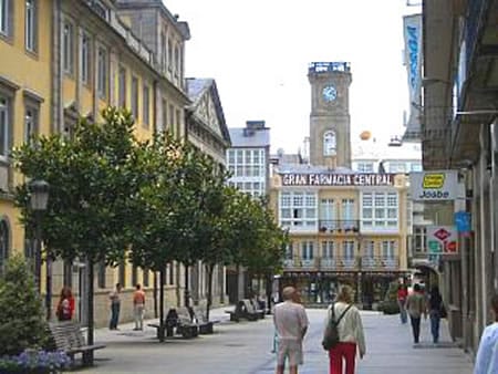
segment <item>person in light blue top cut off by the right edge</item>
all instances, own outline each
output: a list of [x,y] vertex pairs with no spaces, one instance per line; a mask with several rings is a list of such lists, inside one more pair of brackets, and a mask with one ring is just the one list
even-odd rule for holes
[[483,331],[477,349],[474,374],[498,373],[498,293],[491,298],[491,312],[495,322]]

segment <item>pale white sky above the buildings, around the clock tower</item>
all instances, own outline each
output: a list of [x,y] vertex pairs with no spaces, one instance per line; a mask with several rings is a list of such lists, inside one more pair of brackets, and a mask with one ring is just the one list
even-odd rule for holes
[[297,153],[309,135],[310,62],[351,63],[351,139],[404,132],[405,0],[163,0],[190,28],[187,77],[216,81],[228,127],[263,120],[271,152]]

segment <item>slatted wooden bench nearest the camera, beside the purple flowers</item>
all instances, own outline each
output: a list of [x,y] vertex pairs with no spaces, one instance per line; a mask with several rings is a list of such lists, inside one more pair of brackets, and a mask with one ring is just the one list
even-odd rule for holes
[[49,324],[55,347],[65,352],[74,363],[74,355],[82,354],[83,366],[91,364],[93,351],[105,349],[104,344],[87,345],[80,323],[74,321],[54,322]]

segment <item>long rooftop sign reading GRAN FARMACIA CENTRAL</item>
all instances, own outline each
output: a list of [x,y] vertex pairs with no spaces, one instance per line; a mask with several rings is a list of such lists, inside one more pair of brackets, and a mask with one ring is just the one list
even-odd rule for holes
[[394,174],[282,174],[282,186],[394,186]]

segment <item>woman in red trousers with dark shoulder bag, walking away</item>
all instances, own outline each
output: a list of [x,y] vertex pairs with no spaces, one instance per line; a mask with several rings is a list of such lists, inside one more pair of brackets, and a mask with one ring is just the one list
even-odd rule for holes
[[334,309],[335,321],[341,321],[338,325],[339,343],[329,350],[330,374],[342,374],[343,363],[345,363],[345,374],[354,374],[356,352],[360,359],[366,353],[365,334],[363,331],[360,311],[353,305],[353,289],[350,285],[342,285],[332,304],[326,310],[325,329],[332,318]]

